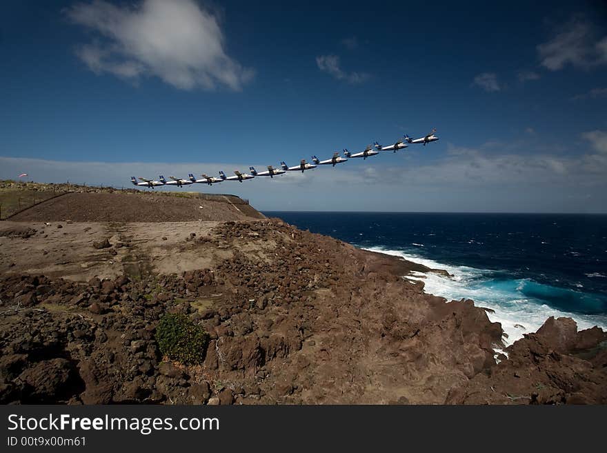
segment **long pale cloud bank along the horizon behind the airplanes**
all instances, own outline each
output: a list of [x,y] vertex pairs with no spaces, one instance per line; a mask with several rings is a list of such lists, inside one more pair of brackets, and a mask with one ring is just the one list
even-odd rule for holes
[[[551,151],[550,146],[529,154],[530,137],[519,142],[486,143],[479,148],[447,145],[446,154],[439,154],[441,145],[411,146],[406,152],[381,154],[366,161],[350,159],[335,168],[212,187],[190,185],[185,190],[237,194],[266,210],[607,212],[607,131],[589,131],[581,137],[589,143],[588,152],[575,156]],[[431,163],[423,157],[430,151],[436,153]],[[288,163],[294,165],[296,160]],[[35,181],[132,187],[131,176],[217,175],[222,169],[227,174],[237,168],[248,170],[249,164],[0,157],[0,179],[15,179],[27,172]],[[267,162],[255,164],[257,170],[265,168],[262,164]]]

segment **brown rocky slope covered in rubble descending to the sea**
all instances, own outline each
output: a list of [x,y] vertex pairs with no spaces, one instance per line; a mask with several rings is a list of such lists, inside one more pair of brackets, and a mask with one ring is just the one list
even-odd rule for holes
[[[0,224],[1,403],[607,403],[604,332],[497,354],[483,308],[401,278],[440,271],[279,219],[41,220]],[[202,363],[161,356],[166,313]]]

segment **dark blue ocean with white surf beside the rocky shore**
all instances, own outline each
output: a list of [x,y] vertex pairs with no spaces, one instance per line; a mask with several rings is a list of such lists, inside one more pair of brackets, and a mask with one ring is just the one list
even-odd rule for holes
[[607,215],[263,212],[359,248],[444,269],[425,291],[495,310],[507,343],[548,316],[607,330]]

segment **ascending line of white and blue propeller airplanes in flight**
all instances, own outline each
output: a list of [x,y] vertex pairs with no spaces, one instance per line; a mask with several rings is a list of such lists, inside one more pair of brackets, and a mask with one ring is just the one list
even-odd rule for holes
[[[301,159],[301,161],[299,161],[299,165],[295,165],[293,167],[289,167],[284,161],[281,161],[281,163],[280,163],[281,168],[274,168],[274,167],[272,167],[272,165],[268,165],[268,167],[267,167],[268,170],[264,171],[264,172],[257,172],[257,170],[255,170],[255,167],[249,167],[250,174],[241,173],[241,172],[239,172],[239,170],[235,170],[234,176],[230,176],[230,177],[226,176],[226,174],[224,172],[220,171],[219,178],[210,177],[207,174],[203,173],[200,175],[202,178],[197,179],[194,176],[194,174],[190,173],[190,174],[188,174],[188,178],[186,178],[186,179],[175,178],[175,177],[171,176],[171,177],[169,177],[170,181],[167,181],[163,177],[163,175],[160,175],[158,181],[155,181],[153,179],[146,179],[143,177],[139,177],[139,178],[131,177],[130,181],[131,181],[132,185],[137,185],[139,187],[147,187],[147,188],[153,189],[153,188],[161,186],[161,185],[176,185],[177,187],[183,187],[183,185],[190,185],[190,184],[195,184],[195,183],[213,185],[214,183],[221,183],[223,181],[242,182],[246,179],[253,179],[255,177],[264,177],[264,176],[273,178],[280,174],[285,174],[286,172],[302,172],[303,173],[306,170],[312,170],[313,168],[316,168],[317,165],[332,165],[333,167],[335,167],[335,165],[337,165],[338,163],[347,162],[348,159],[350,159],[350,158],[362,157],[364,160],[366,160],[367,157],[377,156],[377,154],[379,154],[380,151],[397,152],[398,150],[403,150],[404,148],[407,148],[408,145],[411,145],[411,144],[421,143],[422,145],[425,146],[427,143],[431,143],[432,141],[437,141],[439,139],[439,137],[437,137],[435,135],[435,133],[436,133],[436,129],[432,129],[432,131],[429,134],[424,135],[424,137],[419,137],[419,139],[412,139],[411,137],[409,137],[408,135],[405,134],[402,139],[397,140],[395,143],[392,143],[391,145],[385,145],[385,146],[380,145],[376,141],[373,144],[373,146],[368,145],[364,150],[362,150],[360,152],[352,153],[352,152],[348,151],[347,149],[344,149],[343,152],[344,152],[345,157],[341,157],[339,155],[339,152],[334,152],[333,156],[330,159],[326,159],[324,161],[321,161],[316,156],[312,156],[313,163],[308,163],[308,161],[306,161],[306,159]],[[138,179],[139,179],[139,181],[137,181]]]

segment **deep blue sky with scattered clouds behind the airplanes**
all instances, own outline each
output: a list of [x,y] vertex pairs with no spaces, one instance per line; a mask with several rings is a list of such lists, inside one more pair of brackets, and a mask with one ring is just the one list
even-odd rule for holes
[[263,210],[607,212],[600,5],[4,1],[0,178],[120,186],[437,128],[195,188]]

